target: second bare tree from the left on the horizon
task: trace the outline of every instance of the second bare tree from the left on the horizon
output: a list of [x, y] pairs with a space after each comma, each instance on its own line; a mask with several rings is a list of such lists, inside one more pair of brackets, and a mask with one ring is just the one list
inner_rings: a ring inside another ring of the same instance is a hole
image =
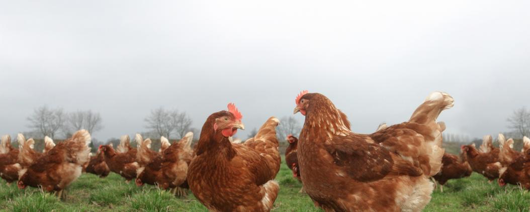
[[71, 112], [68, 113], [63, 131], [66, 137], [72, 136], [75, 131], [80, 129], [86, 129], [92, 134], [103, 129], [101, 121], [100, 113], [92, 112], [92, 110]]

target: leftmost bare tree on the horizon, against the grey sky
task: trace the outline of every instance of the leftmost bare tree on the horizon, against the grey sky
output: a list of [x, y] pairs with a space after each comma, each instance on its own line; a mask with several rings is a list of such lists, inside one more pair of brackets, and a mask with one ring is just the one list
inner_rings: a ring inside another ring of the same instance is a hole
[[65, 113], [61, 108], [49, 109], [42, 106], [33, 110], [33, 114], [27, 119], [30, 121], [28, 127], [37, 131], [42, 137], [54, 138], [57, 131], [63, 127]]

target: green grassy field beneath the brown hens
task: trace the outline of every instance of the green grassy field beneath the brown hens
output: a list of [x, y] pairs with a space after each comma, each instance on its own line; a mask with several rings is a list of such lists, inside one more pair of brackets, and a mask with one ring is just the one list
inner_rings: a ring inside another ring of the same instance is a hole
[[[301, 184], [282, 164], [277, 180], [280, 193], [273, 211], [321, 211], [309, 197], [299, 194]], [[425, 211], [530, 211], [530, 194], [519, 187], [501, 188], [482, 175], [449, 181], [444, 193], [436, 190]], [[67, 190], [64, 201], [39, 189], [19, 190], [0, 183], [0, 211], [207, 211], [193, 195], [175, 198], [167, 191], [146, 185], [126, 184], [117, 174], [100, 179], [83, 174]]]

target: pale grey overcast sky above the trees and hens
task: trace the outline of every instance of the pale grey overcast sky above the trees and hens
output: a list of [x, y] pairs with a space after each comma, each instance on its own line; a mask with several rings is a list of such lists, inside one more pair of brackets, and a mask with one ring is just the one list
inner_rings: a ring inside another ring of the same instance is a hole
[[438, 90], [455, 99], [449, 133], [507, 131], [530, 108], [530, 1], [1, 2], [0, 134], [29, 131], [42, 105], [100, 112], [107, 140], [147, 131], [161, 106], [200, 129], [234, 102], [246, 137], [293, 116], [301, 90], [358, 133]]

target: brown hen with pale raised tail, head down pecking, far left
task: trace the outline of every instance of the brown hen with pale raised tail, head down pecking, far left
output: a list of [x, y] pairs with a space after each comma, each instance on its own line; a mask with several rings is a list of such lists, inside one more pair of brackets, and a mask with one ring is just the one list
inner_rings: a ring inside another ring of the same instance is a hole
[[[77, 131], [72, 138], [57, 144], [27, 169], [21, 170], [18, 187], [42, 188], [63, 197], [63, 190], [81, 175], [81, 166], [90, 160], [90, 142], [88, 131]], [[25, 157], [26, 153], [29, 152], [21, 151], [19, 156]]]

